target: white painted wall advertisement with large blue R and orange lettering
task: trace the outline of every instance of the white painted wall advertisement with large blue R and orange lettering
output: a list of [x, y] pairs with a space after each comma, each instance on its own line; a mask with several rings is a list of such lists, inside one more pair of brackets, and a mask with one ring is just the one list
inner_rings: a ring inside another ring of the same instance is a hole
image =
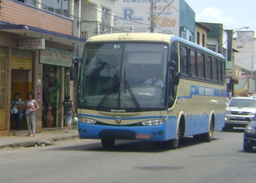
[[[150, 0], [116, 1], [113, 10], [115, 27], [119, 30], [150, 32]], [[155, 0], [154, 17], [154, 33], [179, 36], [179, 0]]]

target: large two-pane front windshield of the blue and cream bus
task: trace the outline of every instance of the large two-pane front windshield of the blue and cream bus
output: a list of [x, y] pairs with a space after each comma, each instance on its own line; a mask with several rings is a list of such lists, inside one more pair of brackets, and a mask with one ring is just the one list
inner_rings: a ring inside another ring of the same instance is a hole
[[80, 108], [116, 111], [165, 107], [168, 46], [88, 43], [79, 78]]

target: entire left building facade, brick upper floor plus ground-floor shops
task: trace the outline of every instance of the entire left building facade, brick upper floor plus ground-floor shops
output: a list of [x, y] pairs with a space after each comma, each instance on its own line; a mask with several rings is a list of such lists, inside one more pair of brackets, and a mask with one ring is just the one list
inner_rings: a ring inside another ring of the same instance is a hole
[[[0, 136], [27, 133], [17, 131], [11, 118], [11, 100], [16, 92], [27, 99], [32, 91], [40, 109], [36, 131], [64, 126], [58, 106], [65, 94], [73, 94], [69, 68], [74, 47], [85, 40], [73, 36], [74, 1], [4, 0], [0, 1]], [[51, 109], [50, 109], [51, 108]], [[47, 115], [54, 120], [48, 123]]]

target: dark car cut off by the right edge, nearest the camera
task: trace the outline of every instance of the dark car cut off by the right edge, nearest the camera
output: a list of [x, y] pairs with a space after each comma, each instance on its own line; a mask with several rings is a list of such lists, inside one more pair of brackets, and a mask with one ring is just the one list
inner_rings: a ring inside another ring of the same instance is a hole
[[253, 147], [256, 146], [256, 116], [246, 126], [244, 132], [244, 151], [251, 152]]

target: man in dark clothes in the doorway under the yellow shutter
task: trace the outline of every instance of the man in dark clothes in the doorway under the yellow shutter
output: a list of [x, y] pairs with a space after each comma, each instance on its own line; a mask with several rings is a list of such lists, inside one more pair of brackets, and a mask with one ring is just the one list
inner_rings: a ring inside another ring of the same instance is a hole
[[11, 101], [11, 108], [14, 111], [14, 114], [12, 114], [12, 117], [18, 117], [18, 129], [22, 130], [21, 122], [22, 122], [22, 116], [23, 116], [23, 105], [24, 101], [19, 98], [19, 93], [15, 93], [15, 99]]

